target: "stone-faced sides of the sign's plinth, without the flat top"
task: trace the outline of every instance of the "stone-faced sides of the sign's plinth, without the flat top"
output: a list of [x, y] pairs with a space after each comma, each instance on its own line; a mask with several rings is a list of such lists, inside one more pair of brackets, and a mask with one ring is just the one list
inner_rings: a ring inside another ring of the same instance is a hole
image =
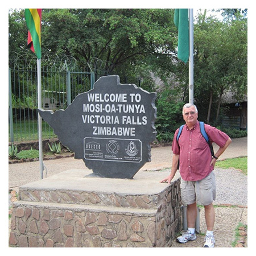
[[22, 189], [12, 247], [169, 247], [181, 230], [180, 179], [155, 195]]

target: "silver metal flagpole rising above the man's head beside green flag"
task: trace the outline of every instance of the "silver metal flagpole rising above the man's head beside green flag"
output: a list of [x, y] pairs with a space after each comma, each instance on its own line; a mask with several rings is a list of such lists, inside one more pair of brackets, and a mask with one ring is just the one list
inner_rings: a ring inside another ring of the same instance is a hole
[[189, 9], [189, 103], [194, 102], [194, 24], [193, 9]]

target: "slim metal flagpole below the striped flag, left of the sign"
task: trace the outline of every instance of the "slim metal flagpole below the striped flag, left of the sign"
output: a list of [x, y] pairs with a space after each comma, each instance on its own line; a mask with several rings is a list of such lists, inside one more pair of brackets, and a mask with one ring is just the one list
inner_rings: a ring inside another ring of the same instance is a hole
[[[38, 59], [38, 109], [42, 109], [42, 86], [41, 86], [41, 59]], [[42, 144], [42, 117], [38, 113], [38, 141], [39, 141], [39, 167], [41, 179], [44, 178], [43, 170], [43, 144]]]

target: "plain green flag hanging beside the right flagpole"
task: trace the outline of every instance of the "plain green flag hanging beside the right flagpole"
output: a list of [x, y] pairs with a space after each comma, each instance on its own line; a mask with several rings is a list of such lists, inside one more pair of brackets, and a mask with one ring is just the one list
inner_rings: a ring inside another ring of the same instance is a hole
[[178, 59], [187, 63], [189, 56], [188, 9], [175, 9], [174, 24], [178, 30]]

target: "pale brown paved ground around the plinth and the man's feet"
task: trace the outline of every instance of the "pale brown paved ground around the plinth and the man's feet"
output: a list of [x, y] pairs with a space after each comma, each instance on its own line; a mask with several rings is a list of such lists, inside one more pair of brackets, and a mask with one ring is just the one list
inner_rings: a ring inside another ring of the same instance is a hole
[[[171, 167], [172, 151], [170, 146], [152, 148], [151, 154], [152, 161], [145, 164], [141, 169], [142, 171]], [[247, 137], [233, 139], [232, 144], [230, 144], [229, 148], [220, 157], [220, 160], [239, 156], [247, 156]], [[46, 160], [44, 164], [47, 168], [47, 177], [70, 169], [86, 168], [82, 160], [76, 160], [74, 158]], [[46, 177], [46, 170], [44, 171], [44, 177]], [[20, 185], [36, 180], [40, 180], [39, 162], [9, 164], [9, 189], [18, 191]], [[232, 247], [234, 229], [236, 229], [239, 222], [247, 225], [247, 204], [240, 207], [216, 207], [216, 224], [214, 226], [216, 247]], [[202, 233], [206, 230], [204, 209], [200, 210], [200, 230]], [[185, 245], [174, 241], [172, 247], [201, 247], [203, 243], [204, 236], [199, 235], [195, 241], [188, 242]]]

